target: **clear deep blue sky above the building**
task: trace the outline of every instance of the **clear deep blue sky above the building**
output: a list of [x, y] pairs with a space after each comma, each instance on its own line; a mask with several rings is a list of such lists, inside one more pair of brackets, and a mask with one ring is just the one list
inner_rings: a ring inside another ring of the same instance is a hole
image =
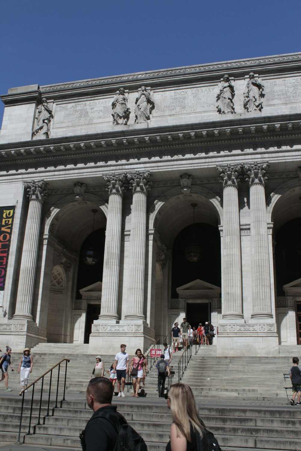
[[298, 52], [300, 13], [300, 0], [0, 0], [0, 94]]

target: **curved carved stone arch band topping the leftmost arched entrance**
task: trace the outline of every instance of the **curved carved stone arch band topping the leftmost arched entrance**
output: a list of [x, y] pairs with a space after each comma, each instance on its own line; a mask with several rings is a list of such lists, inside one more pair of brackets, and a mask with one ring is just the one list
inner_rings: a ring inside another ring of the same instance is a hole
[[42, 233], [49, 234], [51, 223], [56, 217], [56, 215], [62, 210], [62, 208], [67, 207], [68, 205], [75, 204], [77, 202], [79, 204], [80, 202], [93, 202], [96, 207], [102, 210], [102, 212], [107, 218], [108, 204], [107, 202], [104, 202], [102, 198], [95, 196], [95, 194], [85, 193], [84, 201], [79, 202], [74, 199], [74, 194], [71, 194], [61, 199], [60, 201], [56, 202], [56, 204], [50, 208], [49, 212], [46, 214], [45, 219], [43, 221]]

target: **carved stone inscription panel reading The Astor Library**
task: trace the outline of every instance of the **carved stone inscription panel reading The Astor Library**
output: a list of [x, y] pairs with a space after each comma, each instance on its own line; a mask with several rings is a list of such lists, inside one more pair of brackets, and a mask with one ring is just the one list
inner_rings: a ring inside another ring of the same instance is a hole
[[53, 128], [110, 123], [112, 122], [112, 99], [113, 96], [72, 103], [58, 103], [54, 114]]

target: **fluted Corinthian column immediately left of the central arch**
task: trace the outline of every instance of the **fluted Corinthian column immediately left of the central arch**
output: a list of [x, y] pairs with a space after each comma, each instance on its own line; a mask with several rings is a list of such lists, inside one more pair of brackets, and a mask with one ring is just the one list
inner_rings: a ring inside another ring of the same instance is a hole
[[133, 205], [130, 231], [130, 274], [128, 287], [128, 313], [125, 319], [144, 318], [144, 267], [146, 235], [146, 197], [150, 190], [149, 172], [136, 173], [130, 180], [133, 189]]

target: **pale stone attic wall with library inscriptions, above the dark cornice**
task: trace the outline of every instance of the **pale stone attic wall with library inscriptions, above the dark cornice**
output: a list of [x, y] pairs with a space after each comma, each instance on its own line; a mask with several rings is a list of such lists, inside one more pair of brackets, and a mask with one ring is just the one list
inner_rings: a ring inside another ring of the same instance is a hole
[[[296, 63], [300, 60], [300, 54], [292, 54], [44, 87], [12, 88], [1, 97], [6, 108], [0, 143], [35, 138], [43, 139], [44, 144], [45, 138], [114, 132], [116, 128], [136, 130], [140, 134], [144, 128], [150, 131], [163, 125], [223, 119], [248, 121], [250, 117], [278, 115], [279, 108], [282, 114], [298, 114], [301, 72]], [[278, 69], [281, 61], [287, 63], [287, 72]], [[181, 74], [185, 74], [185, 81], [179, 78]], [[141, 86], [144, 81], [147, 87]], [[97, 86], [102, 86], [102, 94], [99, 90], [97, 94], [93, 92]], [[22, 127], [20, 120], [14, 118], [17, 111], [24, 116]], [[268, 125], [263, 126], [265, 133]], [[127, 146], [127, 139], [123, 141]]]

